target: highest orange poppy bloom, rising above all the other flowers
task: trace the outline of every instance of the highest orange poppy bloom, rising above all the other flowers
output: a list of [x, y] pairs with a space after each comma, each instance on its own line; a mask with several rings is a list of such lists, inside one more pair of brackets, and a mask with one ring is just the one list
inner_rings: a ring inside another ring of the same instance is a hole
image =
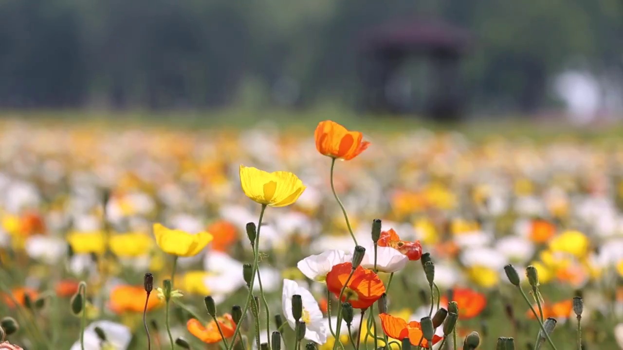
[[314, 138], [318, 152], [347, 161], [358, 156], [370, 144], [368, 141], [361, 141], [363, 134], [359, 131], [348, 131], [344, 126], [330, 120], [318, 123]]

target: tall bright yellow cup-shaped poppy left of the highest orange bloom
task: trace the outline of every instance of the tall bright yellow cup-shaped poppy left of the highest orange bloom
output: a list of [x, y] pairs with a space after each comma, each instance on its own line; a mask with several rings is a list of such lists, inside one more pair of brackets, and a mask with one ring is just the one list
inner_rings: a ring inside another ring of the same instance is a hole
[[289, 206], [307, 188], [295, 174], [288, 171], [268, 173], [243, 165], [240, 165], [240, 184], [247, 197], [271, 207]]

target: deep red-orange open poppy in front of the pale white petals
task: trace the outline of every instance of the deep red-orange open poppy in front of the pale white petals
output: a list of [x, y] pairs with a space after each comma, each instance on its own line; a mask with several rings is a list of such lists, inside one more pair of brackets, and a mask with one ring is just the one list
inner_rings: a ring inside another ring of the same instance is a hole
[[[338, 298], [342, 287], [353, 270], [350, 262], [338, 263], [326, 275], [326, 288]], [[385, 293], [381, 278], [372, 270], [358, 266], [353, 273], [342, 295], [342, 301], [348, 300], [353, 308], [366, 309], [374, 304]]]

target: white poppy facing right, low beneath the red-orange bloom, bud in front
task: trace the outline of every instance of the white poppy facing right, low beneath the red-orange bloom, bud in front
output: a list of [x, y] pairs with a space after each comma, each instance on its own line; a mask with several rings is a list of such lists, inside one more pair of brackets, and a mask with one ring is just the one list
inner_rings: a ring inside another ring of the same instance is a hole
[[305, 339], [315, 341], [318, 344], [325, 344], [328, 329], [323, 323], [322, 311], [314, 299], [312, 293], [307, 289], [298, 286], [293, 280], [283, 280], [282, 306], [283, 315], [292, 329], [296, 327], [296, 319], [292, 315], [292, 296], [300, 295], [303, 301], [302, 321], [305, 322]]

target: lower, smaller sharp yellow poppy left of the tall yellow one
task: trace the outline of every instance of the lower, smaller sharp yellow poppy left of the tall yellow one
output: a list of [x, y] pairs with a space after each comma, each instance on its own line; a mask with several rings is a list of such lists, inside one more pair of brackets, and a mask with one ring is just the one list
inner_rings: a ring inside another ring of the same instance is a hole
[[193, 257], [212, 242], [212, 235], [207, 232], [189, 234], [183, 230], [172, 230], [161, 224], [154, 224], [156, 244], [165, 253], [178, 257]]

